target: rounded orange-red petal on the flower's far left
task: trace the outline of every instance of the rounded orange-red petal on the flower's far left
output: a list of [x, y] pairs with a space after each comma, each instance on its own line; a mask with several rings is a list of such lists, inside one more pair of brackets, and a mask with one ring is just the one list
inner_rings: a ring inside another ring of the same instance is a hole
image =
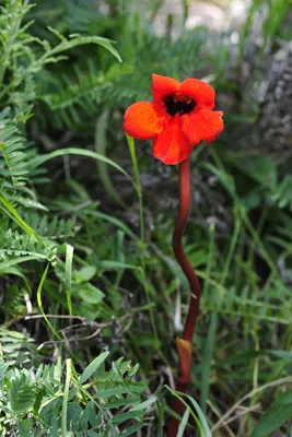
[[162, 131], [165, 116], [163, 104], [137, 102], [125, 113], [124, 130], [136, 140], [149, 140]]

